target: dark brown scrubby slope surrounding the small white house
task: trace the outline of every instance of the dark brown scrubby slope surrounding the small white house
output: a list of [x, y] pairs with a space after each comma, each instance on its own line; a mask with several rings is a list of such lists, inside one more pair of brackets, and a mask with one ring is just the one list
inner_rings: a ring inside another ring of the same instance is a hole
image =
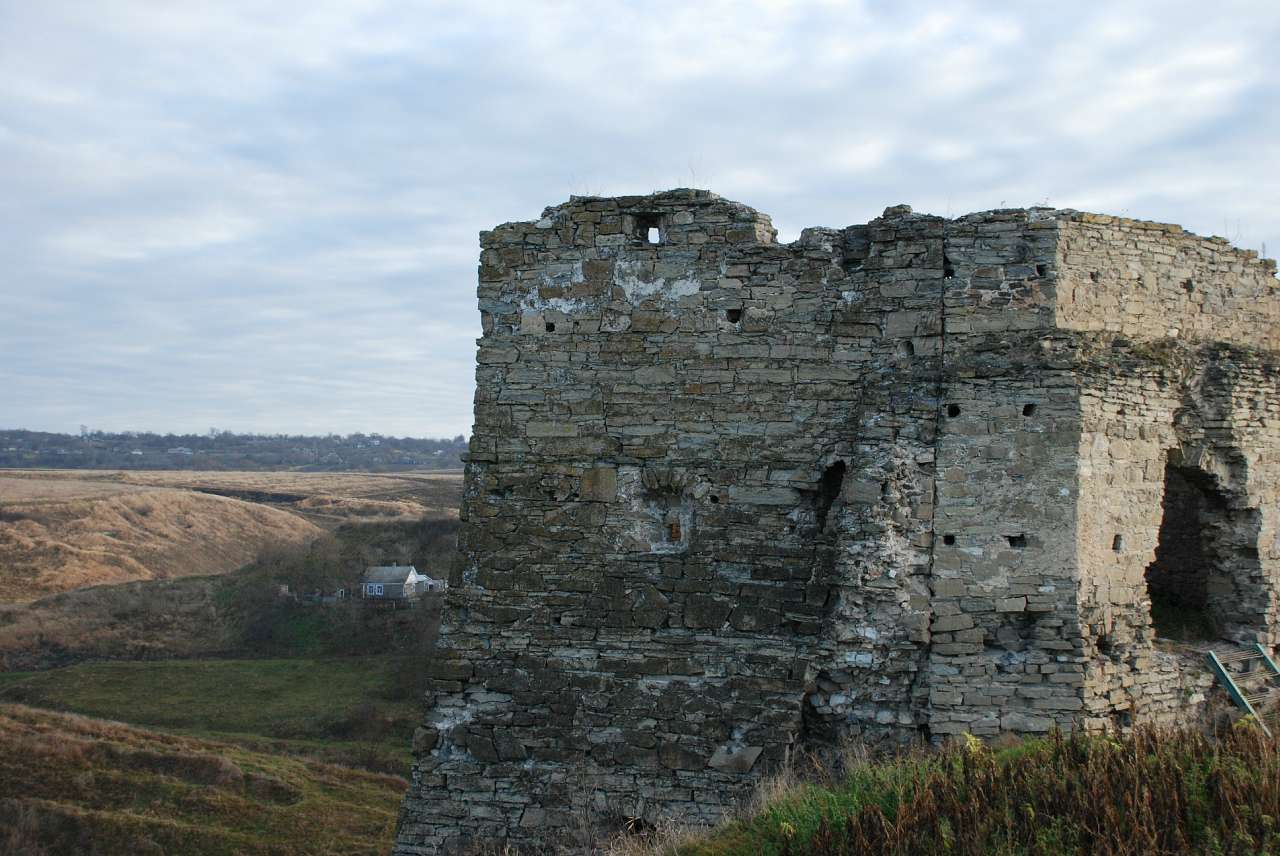
[[349, 525], [307, 548], [262, 550], [236, 573], [92, 586], [31, 604], [0, 603], [0, 672], [86, 659], [425, 653], [434, 631], [406, 624], [419, 618], [433, 624], [434, 615], [369, 613], [356, 603], [311, 608], [276, 592], [282, 583], [298, 592], [351, 587], [365, 566], [383, 562], [412, 563], [447, 577], [457, 562], [457, 530], [456, 519]]

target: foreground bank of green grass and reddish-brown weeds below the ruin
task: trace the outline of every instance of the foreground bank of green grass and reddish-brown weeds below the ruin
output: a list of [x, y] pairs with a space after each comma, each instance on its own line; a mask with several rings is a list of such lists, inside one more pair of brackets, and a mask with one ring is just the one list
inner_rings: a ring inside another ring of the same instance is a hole
[[1248, 723], [1217, 740], [973, 741], [781, 784], [745, 819], [649, 852], [1280, 853], [1280, 742]]

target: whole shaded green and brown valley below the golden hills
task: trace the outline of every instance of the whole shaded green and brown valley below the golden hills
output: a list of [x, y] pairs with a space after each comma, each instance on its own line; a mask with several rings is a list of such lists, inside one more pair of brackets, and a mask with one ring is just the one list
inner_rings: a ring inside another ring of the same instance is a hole
[[384, 560], [447, 576], [457, 526], [343, 525], [234, 573], [0, 604], [0, 856], [387, 852], [438, 603], [282, 586]]

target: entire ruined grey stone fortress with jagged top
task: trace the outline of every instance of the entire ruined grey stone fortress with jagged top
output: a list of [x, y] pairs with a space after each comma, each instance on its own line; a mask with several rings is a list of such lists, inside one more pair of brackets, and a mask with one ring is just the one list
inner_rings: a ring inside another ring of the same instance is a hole
[[712, 821], [797, 749], [1197, 715], [1276, 646], [1280, 281], [1172, 225], [705, 191], [481, 234], [462, 578], [397, 853]]

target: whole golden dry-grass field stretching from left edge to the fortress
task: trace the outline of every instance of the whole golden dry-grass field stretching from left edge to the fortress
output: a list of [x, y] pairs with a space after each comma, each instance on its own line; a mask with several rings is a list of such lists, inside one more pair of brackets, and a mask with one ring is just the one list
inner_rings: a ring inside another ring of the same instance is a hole
[[452, 518], [461, 473], [0, 471], [0, 603], [227, 573], [347, 522]]

